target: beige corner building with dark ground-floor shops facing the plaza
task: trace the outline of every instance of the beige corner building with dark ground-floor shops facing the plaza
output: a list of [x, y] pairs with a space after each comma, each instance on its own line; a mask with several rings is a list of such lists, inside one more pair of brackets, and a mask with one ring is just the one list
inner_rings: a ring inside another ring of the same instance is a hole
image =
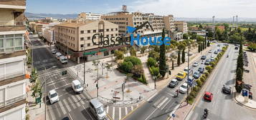
[[[84, 21], [54, 26], [55, 46], [63, 54], [68, 53], [70, 59], [77, 61], [78, 64], [83, 59], [91, 61], [93, 59], [113, 56], [115, 49], [126, 46], [96, 45], [102, 39], [108, 43], [107, 40], [110, 40], [111, 37], [113, 37], [113, 41], [116, 41], [118, 38], [118, 25], [109, 21]], [[93, 44], [93, 41], [96, 44]], [[98, 51], [101, 54], [97, 55]]]

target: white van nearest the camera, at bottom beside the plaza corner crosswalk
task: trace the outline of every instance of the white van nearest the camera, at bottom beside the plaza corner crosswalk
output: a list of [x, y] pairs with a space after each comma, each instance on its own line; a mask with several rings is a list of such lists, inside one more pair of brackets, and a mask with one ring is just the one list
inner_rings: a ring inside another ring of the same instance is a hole
[[97, 119], [107, 119], [107, 114], [105, 112], [103, 104], [100, 103], [98, 99], [91, 99], [89, 104], [90, 111], [96, 116]]

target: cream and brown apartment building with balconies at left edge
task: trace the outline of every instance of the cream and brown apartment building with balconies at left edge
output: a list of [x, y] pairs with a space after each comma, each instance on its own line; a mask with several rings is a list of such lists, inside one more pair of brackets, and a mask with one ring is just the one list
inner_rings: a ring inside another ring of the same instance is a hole
[[0, 1], [0, 119], [24, 120], [28, 79], [24, 34], [25, 0]]

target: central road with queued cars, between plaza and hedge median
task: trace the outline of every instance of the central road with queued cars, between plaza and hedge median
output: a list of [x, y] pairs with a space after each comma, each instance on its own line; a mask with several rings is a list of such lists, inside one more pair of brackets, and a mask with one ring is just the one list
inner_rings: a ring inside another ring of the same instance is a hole
[[[219, 49], [219, 46], [217, 44], [212, 45], [212, 51], [215, 51]], [[210, 57], [217, 55], [212, 52], [206, 54], [207, 59], [210, 59]], [[199, 62], [199, 66], [193, 67], [191, 63], [190, 68], [193, 71], [197, 71], [197, 69], [201, 66], [204, 67], [204, 61], [202, 62], [201, 57], [199, 59], [196, 59], [197, 62]], [[202, 64], [203, 63], [203, 64]], [[174, 78], [172, 78], [174, 79]], [[148, 119], [158, 119], [158, 120], [164, 120], [168, 119], [171, 112], [176, 108], [176, 106], [179, 106], [181, 101], [186, 97], [186, 94], [179, 94], [178, 98], [174, 98], [173, 96], [176, 94], [176, 89], [179, 89], [179, 86], [185, 82], [185, 79], [183, 81], [179, 81], [179, 85], [176, 86], [174, 89], [170, 89], [168, 86], [163, 88], [158, 93], [151, 96], [151, 98], [148, 99], [141, 107], [136, 109], [136, 111], [133, 111], [132, 114], [127, 116], [126, 120], [134, 120], [134, 119], [140, 119], [140, 120], [148, 120]]]

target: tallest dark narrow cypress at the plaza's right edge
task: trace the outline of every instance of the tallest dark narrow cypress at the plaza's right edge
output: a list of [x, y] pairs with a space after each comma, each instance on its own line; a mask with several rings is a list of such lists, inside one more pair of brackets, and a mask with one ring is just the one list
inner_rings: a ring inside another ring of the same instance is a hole
[[[165, 36], [165, 32], [163, 29], [162, 41], [164, 36]], [[166, 75], [166, 45], [165, 44], [162, 44], [160, 46], [159, 71], [162, 77]]]

